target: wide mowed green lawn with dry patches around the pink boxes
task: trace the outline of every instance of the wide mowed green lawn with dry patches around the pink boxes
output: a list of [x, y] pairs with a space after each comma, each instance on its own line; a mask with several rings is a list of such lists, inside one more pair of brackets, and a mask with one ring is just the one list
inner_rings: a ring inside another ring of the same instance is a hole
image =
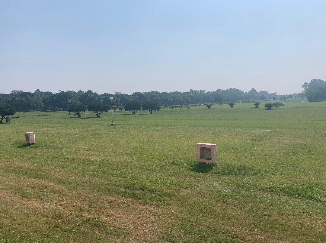
[[16, 113], [0, 242], [326, 242], [326, 102], [284, 103]]

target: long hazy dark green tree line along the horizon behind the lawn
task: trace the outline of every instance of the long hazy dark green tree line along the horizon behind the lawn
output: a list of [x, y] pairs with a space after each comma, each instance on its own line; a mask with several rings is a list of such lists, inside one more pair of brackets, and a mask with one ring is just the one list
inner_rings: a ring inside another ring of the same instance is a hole
[[122, 109], [130, 101], [138, 101], [142, 106], [146, 101], [156, 101], [160, 105], [189, 105], [199, 103], [220, 102], [249, 102], [255, 100], [286, 100], [293, 98], [308, 98], [308, 101], [326, 100], [326, 82], [322, 79], [313, 79], [310, 83], [302, 85], [304, 89], [300, 94], [277, 95], [261, 90], [257, 92], [252, 88], [249, 92], [236, 88], [217, 89], [215, 91], [190, 90], [189, 92], [135, 92], [131, 95], [121, 92], [97, 94], [92, 90], [84, 91], [59, 91], [52, 93], [37, 89], [34, 93], [13, 90], [9, 94], [0, 94], [0, 103], [9, 104], [17, 111], [30, 110], [67, 110], [75, 103], [88, 105], [92, 102], [104, 102], [111, 105], [110, 97], [113, 97], [114, 109]]

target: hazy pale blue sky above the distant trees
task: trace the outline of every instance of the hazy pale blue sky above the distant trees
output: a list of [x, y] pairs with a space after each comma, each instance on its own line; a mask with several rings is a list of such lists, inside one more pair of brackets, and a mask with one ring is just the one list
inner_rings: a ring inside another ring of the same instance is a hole
[[0, 0], [0, 93], [300, 93], [326, 79], [325, 10], [324, 0]]

